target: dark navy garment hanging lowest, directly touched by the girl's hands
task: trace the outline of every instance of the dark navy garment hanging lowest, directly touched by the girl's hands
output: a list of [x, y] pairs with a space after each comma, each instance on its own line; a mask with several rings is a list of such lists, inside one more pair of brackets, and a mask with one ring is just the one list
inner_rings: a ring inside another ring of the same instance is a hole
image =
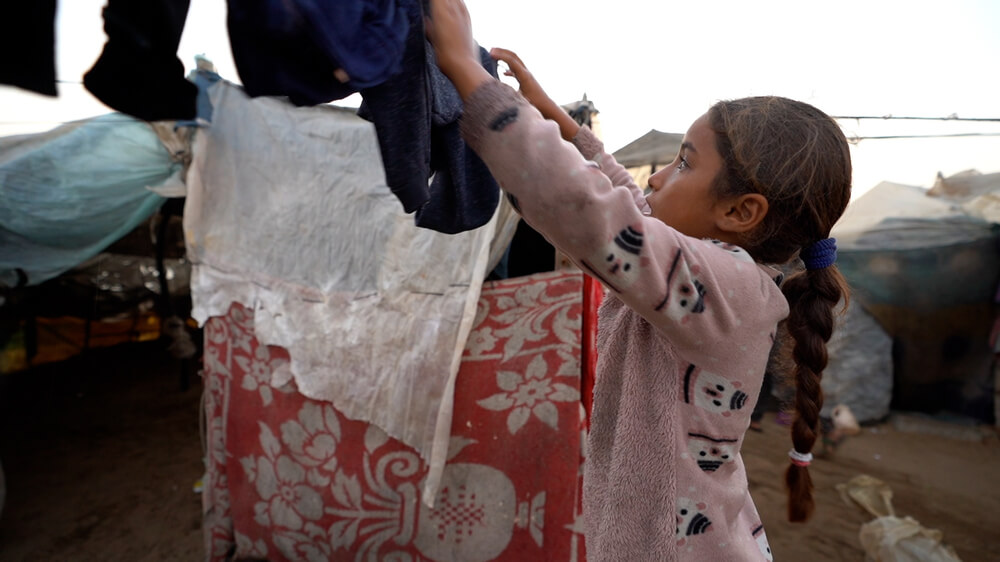
[[[411, 17], [402, 71], [361, 90], [358, 115], [375, 125], [386, 183], [403, 209], [416, 213], [416, 225], [448, 234], [473, 230], [493, 216], [500, 187], [462, 140], [462, 100], [437, 67], [423, 16]], [[496, 61], [482, 48], [480, 57], [496, 78]]]

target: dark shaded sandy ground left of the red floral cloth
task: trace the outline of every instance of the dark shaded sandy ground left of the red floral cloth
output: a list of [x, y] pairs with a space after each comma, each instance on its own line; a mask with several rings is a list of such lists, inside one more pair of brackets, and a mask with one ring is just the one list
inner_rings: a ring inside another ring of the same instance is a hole
[[0, 379], [0, 560], [202, 559], [195, 376], [157, 342]]

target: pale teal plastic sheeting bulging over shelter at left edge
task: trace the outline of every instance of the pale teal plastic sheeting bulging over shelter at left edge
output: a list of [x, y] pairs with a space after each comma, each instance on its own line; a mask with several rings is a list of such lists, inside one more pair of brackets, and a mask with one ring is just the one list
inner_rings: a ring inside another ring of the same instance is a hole
[[179, 170], [149, 126], [121, 114], [0, 139], [0, 283], [51, 279], [146, 220], [146, 186]]

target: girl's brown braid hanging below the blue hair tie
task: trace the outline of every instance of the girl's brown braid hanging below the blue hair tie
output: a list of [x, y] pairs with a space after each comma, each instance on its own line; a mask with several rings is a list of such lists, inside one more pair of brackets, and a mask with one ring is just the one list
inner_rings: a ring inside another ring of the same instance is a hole
[[[823, 407], [820, 378], [826, 368], [826, 342], [833, 334], [833, 307], [847, 295], [847, 285], [836, 267], [806, 270], [788, 278], [782, 290], [788, 299], [788, 333], [794, 340], [795, 419], [792, 444], [808, 453], [816, 443], [819, 412]], [[809, 469], [790, 463], [785, 472], [788, 520], [805, 521], [812, 515], [812, 479]]]

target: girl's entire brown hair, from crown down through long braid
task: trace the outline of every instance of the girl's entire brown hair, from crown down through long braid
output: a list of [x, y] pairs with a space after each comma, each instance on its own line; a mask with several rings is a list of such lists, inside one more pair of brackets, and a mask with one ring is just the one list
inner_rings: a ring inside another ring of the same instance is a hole
[[[759, 193], [768, 212], [747, 233], [743, 247], [759, 262], [784, 264], [830, 235], [851, 198], [851, 156], [837, 123], [815, 107], [774, 96], [721, 101], [708, 112], [725, 162], [714, 190], [719, 196]], [[836, 266], [792, 274], [782, 284], [788, 299], [787, 332], [792, 339], [796, 383], [794, 450], [812, 450], [823, 406], [820, 378], [833, 333], [834, 307], [847, 298]], [[789, 463], [788, 518], [812, 514], [812, 480], [806, 466]]]

